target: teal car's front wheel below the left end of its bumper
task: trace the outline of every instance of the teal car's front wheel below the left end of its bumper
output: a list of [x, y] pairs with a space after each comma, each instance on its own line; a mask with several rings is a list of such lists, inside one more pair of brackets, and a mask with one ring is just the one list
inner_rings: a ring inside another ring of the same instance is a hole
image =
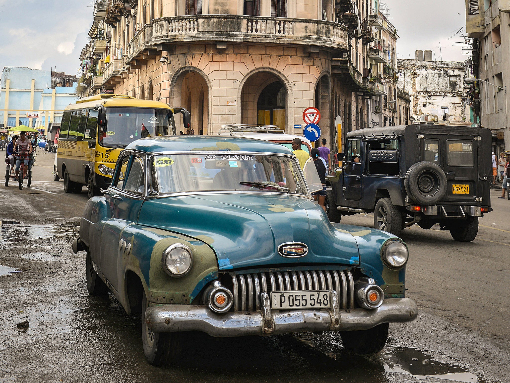
[[149, 330], [145, 322], [148, 308], [147, 297], [142, 298], [142, 344], [143, 353], [151, 365], [168, 367], [175, 365], [181, 353], [181, 334], [175, 332], [154, 332]]

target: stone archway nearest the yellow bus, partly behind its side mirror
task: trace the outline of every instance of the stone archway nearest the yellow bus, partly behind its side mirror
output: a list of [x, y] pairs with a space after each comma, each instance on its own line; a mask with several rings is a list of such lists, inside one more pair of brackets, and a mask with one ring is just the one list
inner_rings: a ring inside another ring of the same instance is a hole
[[[182, 69], [172, 79], [172, 106], [180, 106], [191, 113], [191, 127], [195, 135], [209, 133], [209, 85], [198, 70]], [[175, 115], [177, 134], [183, 131], [181, 117]], [[186, 134], [186, 131], [183, 131]]]

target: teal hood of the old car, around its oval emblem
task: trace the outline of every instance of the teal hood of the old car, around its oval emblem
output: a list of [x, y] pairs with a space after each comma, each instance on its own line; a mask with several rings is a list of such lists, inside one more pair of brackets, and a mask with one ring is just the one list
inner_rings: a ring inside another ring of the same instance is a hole
[[[216, 194], [145, 201], [138, 222], [195, 237], [216, 253], [220, 270], [276, 265], [359, 265], [353, 235], [329, 223], [309, 198], [276, 194]], [[303, 257], [278, 247], [304, 243]]]

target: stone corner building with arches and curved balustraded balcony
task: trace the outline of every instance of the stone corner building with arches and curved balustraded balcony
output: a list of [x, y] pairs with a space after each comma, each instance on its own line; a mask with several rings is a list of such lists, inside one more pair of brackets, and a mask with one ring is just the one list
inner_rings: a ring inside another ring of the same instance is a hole
[[[391, 92], [380, 84], [398, 36], [377, 3], [96, 0], [82, 70], [93, 91], [189, 109], [195, 134], [231, 124], [302, 134], [302, 112], [315, 106], [333, 144], [336, 115], [345, 134], [379, 118], [382, 97], [396, 102], [395, 76]], [[383, 43], [381, 31], [393, 37]]]

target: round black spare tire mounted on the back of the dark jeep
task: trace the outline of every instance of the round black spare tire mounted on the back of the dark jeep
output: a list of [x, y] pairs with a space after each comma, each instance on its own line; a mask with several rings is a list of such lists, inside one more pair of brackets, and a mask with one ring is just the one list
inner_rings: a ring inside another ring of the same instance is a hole
[[434, 162], [418, 162], [405, 174], [404, 186], [413, 201], [432, 205], [440, 201], [446, 193], [446, 175]]

